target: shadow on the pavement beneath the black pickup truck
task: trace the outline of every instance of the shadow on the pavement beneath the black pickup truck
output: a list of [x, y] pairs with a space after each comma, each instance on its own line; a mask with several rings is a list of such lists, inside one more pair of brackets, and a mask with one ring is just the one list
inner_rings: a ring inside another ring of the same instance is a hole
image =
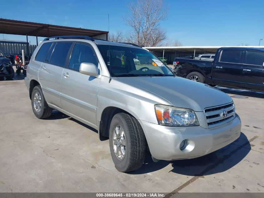
[[260, 92], [260, 91], [232, 89], [232, 88], [219, 87], [219, 86], [215, 86], [214, 88], [219, 89], [225, 92], [226, 94], [234, 94], [234, 95], [239, 95], [239, 96], [255, 97], [255, 98], [264, 98], [264, 92]]

